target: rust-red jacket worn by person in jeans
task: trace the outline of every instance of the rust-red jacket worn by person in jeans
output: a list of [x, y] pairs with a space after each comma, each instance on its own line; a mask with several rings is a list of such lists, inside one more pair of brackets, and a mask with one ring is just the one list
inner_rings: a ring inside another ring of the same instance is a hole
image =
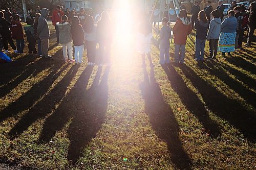
[[191, 20], [189, 18], [178, 18], [174, 28], [174, 43], [185, 45], [187, 41], [187, 35], [192, 31]]

